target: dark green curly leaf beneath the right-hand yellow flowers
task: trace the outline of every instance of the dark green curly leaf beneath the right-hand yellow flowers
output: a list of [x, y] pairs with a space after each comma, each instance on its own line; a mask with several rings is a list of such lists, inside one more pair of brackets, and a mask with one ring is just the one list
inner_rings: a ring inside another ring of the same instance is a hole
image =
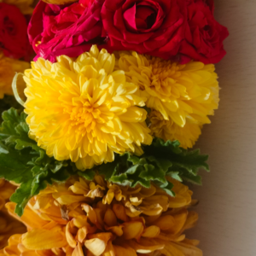
[[155, 138], [150, 146], [143, 148], [142, 156], [131, 153], [116, 154], [112, 163], [102, 164], [96, 170], [110, 182], [131, 187], [139, 183], [146, 188], [153, 182], [173, 196], [173, 185], [166, 180], [166, 176], [179, 182], [184, 179], [201, 184], [199, 169], [209, 170], [207, 155], [201, 155], [199, 150], [185, 150], [179, 145], [177, 141], [165, 143]]

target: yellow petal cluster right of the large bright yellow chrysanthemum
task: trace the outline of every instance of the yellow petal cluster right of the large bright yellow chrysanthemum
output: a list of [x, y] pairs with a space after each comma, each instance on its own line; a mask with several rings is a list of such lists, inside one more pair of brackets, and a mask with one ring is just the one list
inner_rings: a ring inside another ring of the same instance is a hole
[[125, 70], [127, 80], [140, 87], [147, 107], [162, 115], [161, 118], [154, 114], [157, 116], [151, 124], [154, 136], [178, 139], [184, 148], [192, 147], [201, 133], [201, 125], [209, 124], [207, 116], [218, 108], [218, 77], [214, 66], [196, 61], [180, 65], [134, 51], [115, 55], [119, 59], [116, 68]]

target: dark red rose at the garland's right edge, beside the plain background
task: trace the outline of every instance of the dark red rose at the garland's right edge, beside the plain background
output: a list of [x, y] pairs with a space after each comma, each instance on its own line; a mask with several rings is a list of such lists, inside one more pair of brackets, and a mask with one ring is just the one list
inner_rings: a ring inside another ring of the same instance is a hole
[[217, 63], [226, 54], [223, 41], [229, 35], [227, 28], [214, 19], [212, 0], [187, 0], [187, 4], [188, 23], [179, 50], [182, 63], [191, 59]]

